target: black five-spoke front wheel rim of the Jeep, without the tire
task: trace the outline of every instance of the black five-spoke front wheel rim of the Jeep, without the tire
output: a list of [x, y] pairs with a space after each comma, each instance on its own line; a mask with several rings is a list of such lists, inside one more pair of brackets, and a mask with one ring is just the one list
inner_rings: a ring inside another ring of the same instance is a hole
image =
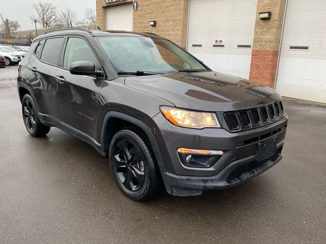
[[140, 150], [127, 139], [120, 140], [115, 148], [114, 169], [122, 185], [129, 191], [144, 186], [145, 166]]

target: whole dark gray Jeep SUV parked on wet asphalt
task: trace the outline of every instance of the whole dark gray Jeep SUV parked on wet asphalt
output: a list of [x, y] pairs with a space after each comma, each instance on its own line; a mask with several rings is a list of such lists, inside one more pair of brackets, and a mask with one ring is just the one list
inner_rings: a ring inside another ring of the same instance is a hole
[[274, 89], [155, 34], [50, 31], [18, 70], [27, 131], [57, 127], [91, 144], [131, 199], [162, 184], [175, 196], [233, 187], [282, 159], [288, 117]]

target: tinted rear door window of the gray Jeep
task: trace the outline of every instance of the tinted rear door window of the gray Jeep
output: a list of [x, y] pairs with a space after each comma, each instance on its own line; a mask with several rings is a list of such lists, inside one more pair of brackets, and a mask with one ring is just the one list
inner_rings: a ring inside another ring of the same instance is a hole
[[43, 47], [41, 60], [49, 64], [58, 65], [63, 42], [63, 37], [47, 39]]

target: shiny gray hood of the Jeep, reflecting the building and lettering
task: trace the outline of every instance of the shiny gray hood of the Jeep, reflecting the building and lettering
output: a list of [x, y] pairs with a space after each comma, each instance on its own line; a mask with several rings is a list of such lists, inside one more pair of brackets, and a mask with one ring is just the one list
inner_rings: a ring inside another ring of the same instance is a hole
[[125, 85], [173, 103], [202, 111], [231, 111], [279, 101], [274, 89], [218, 72], [127, 77]]

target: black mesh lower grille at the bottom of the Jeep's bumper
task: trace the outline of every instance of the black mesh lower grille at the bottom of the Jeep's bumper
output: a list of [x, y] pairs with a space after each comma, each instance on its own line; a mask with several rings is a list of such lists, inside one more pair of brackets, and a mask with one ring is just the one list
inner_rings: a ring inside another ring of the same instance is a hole
[[229, 174], [226, 181], [230, 184], [230, 183], [236, 182], [238, 180], [241, 180], [242, 179], [241, 175], [244, 174], [244, 173], [251, 172], [252, 175], [257, 173], [259, 171], [259, 169], [258, 169], [259, 166], [266, 163], [268, 160], [271, 160], [272, 162], [275, 162], [275, 160], [279, 157], [279, 154], [281, 153], [281, 151], [282, 151], [282, 147], [279, 148], [276, 151], [276, 153], [273, 156], [269, 157], [268, 159], [265, 159], [265, 160], [260, 161], [260, 162], [252, 161], [250, 163], [242, 164], [242, 165], [240, 165], [238, 167], [235, 167], [231, 171], [231, 173]]

